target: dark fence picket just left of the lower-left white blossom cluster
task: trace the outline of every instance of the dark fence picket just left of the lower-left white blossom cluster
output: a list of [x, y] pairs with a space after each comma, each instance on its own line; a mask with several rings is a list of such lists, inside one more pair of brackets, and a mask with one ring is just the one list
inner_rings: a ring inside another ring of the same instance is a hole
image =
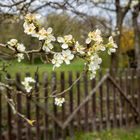
[[[16, 82], [21, 84], [20, 74], [16, 74]], [[17, 87], [17, 91], [20, 89]], [[17, 93], [17, 111], [22, 113], [22, 97], [20, 93]], [[22, 139], [22, 118], [17, 116], [17, 140]]]

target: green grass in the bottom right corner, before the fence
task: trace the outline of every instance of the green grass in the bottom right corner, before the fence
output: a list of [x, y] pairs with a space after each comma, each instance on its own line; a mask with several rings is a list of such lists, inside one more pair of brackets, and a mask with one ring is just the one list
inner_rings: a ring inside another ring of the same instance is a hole
[[[67, 138], [71, 140], [71, 138]], [[140, 126], [92, 133], [77, 133], [73, 140], [140, 140]]]

